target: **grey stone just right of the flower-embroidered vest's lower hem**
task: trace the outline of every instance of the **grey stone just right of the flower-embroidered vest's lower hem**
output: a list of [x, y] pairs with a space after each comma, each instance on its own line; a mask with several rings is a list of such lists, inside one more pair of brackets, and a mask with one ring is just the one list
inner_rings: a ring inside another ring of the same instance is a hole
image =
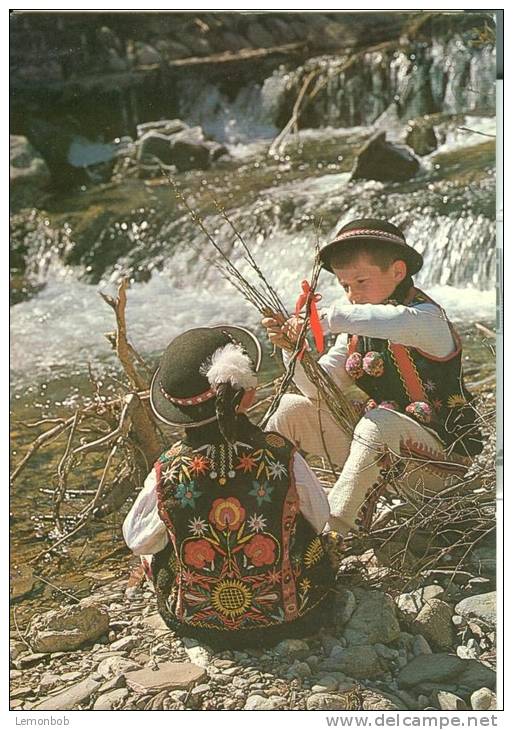
[[401, 629], [395, 603], [381, 591], [355, 590], [357, 606], [344, 629], [349, 645], [390, 644]]

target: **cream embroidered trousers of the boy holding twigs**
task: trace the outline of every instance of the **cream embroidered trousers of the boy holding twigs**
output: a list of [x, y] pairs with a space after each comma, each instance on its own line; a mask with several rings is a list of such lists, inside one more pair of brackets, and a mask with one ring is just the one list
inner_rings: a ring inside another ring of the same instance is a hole
[[319, 404], [303, 396], [286, 396], [269, 422], [309, 454], [343, 464], [330, 491], [330, 527], [339, 532], [370, 527], [379, 496], [393, 482], [409, 500], [424, 499], [450, 486], [466, 467], [449, 461], [441, 441], [411, 418], [376, 408], [360, 419], [352, 440]]

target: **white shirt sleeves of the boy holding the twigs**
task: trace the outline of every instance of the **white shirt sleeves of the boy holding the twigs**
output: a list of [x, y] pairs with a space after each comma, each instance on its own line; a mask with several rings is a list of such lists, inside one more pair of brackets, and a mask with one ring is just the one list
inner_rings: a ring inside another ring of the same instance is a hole
[[[347, 374], [347, 335], [376, 337], [398, 345], [415, 347], [433, 357], [447, 357], [456, 351], [456, 343], [445, 312], [430, 302], [414, 307], [402, 304], [333, 304], [320, 311], [324, 334], [340, 334], [335, 344], [319, 358], [319, 365], [344, 390], [354, 386]], [[288, 365], [291, 353], [283, 350], [283, 362]], [[307, 378], [300, 363], [296, 363], [294, 383], [310, 398], [317, 388]]]

